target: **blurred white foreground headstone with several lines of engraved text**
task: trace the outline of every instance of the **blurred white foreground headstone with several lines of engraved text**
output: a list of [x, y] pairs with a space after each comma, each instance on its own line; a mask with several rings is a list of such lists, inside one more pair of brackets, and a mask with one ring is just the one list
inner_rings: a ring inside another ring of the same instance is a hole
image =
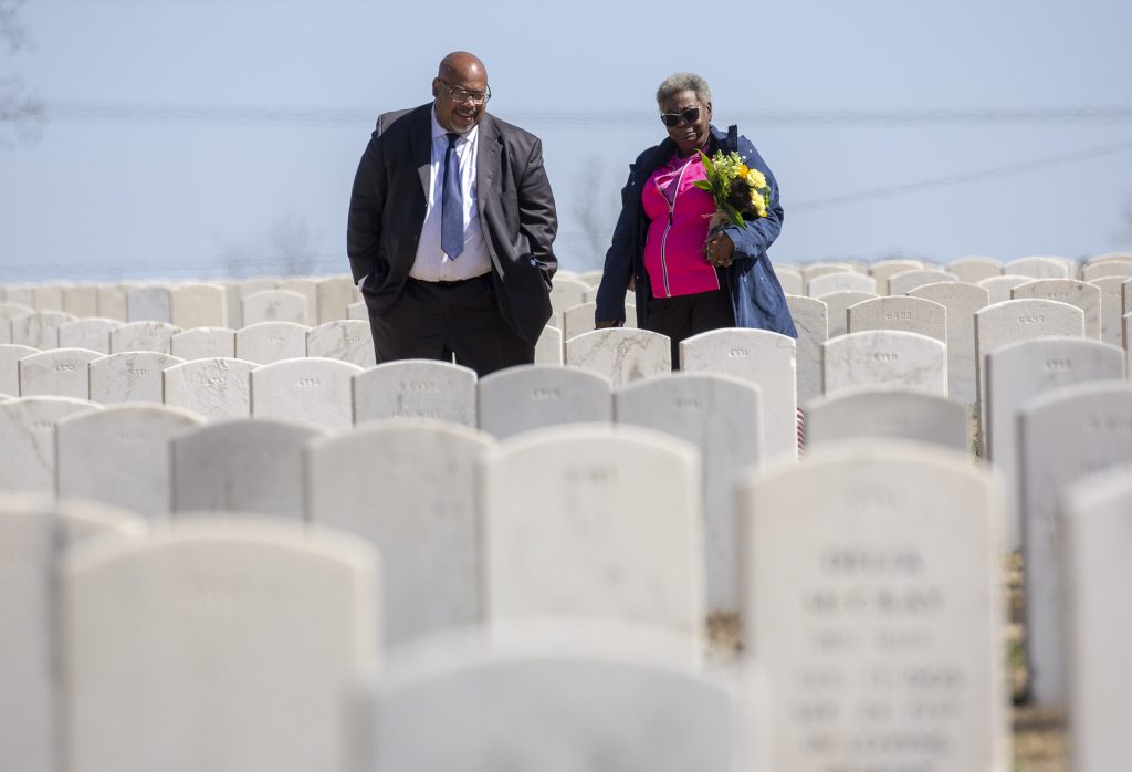
[[740, 501], [767, 769], [1007, 769], [997, 481], [963, 453], [861, 440], [753, 474]]

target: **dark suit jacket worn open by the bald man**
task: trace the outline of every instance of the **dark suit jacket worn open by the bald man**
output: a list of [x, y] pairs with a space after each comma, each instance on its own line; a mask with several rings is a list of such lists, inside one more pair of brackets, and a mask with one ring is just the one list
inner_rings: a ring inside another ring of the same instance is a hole
[[[550, 318], [555, 199], [542, 143], [484, 113], [479, 123], [477, 205], [491, 258], [499, 312], [529, 343]], [[346, 252], [366, 304], [380, 315], [401, 293], [417, 256], [428, 206], [432, 104], [383, 114], [358, 165]]]

